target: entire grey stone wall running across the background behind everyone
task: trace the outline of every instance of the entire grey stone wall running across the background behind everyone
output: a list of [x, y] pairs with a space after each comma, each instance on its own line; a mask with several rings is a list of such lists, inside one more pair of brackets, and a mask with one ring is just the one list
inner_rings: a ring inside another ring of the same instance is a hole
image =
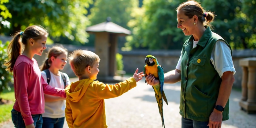
[[[11, 38], [4, 38], [3, 36], [0, 36], [1, 40], [10, 40]], [[3, 41], [3, 42], [5, 42]], [[54, 44], [59, 45], [59, 44]], [[76, 49], [82, 49], [82, 50], [90, 50], [94, 52], [93, 47], [86, 47], [86, 46], [74, 46], [74, 45], [63, 45], [69, 53], [73, 52]], [[46, 59], [46, 53], [49, 50], [49, 48], [52, 47], [52, 45], [47, 45], [47, 49], [44, 51], [42, 56], [35, 55], [35, 59], [38, 62], [38, 65], [40, 66], [43, 61]], [[145, 65], [145, 57], [149, 54], [154, 55], [158, 62], [164, 67], [164, 71], [168, 72], [170, 70], [175, 69], [177, 62], [180, 57], [180, 51], [181, 50], [171, 50], [171, 51], [148, 51], [148, 50], [138, 50], [138, 51], [129, 51], [129, 52], [122, 52], [119, 51], [120, 54], [123, 55], [123, 62], [124, 62], [124, 70], [127, 73], [134, 73], [136, 68], [139, 68], [139, 71], [143, 71], [143, 67]], [[241, 79], [242, 79], [242, 68], [239, 66], [239, 59], [241, 58], [247, 58], [247, 57], [256, 57], [256, 50], [233, 50], [232, 58], [234, 67], [236, 69], [235, 74], [235, 82], [234, 86], [241, 88]], [[67, 64], [62, 72], [65, 72], [69, 75], [69, 77], [75, 77], [75, 74], [70, 68], [70, 65]]]

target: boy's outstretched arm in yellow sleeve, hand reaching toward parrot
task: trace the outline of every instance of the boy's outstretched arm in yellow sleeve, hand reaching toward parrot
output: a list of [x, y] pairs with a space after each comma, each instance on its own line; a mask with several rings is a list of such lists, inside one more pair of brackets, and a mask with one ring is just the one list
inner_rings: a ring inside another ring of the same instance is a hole
[[125, 92], [128, 92], [130, 89], [136, 87], [136, 82], [140, 81], [144, 76], [143, 72], [140, 72], [139, 74], [137, 73], [138, 69], [135, 71], [133, 77], [115, 85], [104, 84], [101, 82], [97, 83], [96, 91], [98, 97], [101, 99], [109, 99], [121, 96]]

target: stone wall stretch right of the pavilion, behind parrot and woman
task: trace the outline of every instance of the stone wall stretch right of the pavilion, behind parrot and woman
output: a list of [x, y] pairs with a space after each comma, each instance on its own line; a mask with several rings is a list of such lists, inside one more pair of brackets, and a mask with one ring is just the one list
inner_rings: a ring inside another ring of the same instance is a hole
[[[129, 51], [119, 52], [123, 55], [124, 70], [128, 73], [134, 73], [136, 68], [139, 71], [143, 71], [145, 65], [145, 57], [149, 54], [154, 55], [157, 58], [159, 64], [164, 68], [165, 72], [174, 70], [180, 57], [181, 50], [172, 51]], [[239, 59], [247, 57], [256, 57], [256, 50], [233, 50], [232, 59], [236, 70], [234, 87], [241, 88], [242, 80], [242, 68], [239, 66]]]

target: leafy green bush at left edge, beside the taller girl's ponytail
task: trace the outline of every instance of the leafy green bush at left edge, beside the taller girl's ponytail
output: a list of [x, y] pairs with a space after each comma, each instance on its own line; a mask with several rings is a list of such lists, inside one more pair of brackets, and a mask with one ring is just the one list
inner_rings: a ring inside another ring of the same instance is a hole
[[10, 87], [8, 84], [13, 82], [13, 75], [11, 72], [6, 71], [6, 67], [4, 66], [5, 60], [8, 59], [7, 55], [7, 47], [9, 42], [2, 44], [2, 41], [0, 40], [0, 94], [4, 89], [10, 90]]

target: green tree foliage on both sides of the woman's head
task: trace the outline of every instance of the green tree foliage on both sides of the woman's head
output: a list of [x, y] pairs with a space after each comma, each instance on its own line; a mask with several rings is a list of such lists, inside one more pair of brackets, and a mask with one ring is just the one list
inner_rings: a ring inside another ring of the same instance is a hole
[[[126, 48], [181, 49], [189, 36], [177, 28], [175, 9], [186, 0], [144, 0], [134, 8], [128, 26]], [[197, 0], [206, 11], [215, 12], [213, 32], [222, 36], [233, 49], [256, 48], [256, 0]], [[125, 48], [123, 48], [125, 49]]]

